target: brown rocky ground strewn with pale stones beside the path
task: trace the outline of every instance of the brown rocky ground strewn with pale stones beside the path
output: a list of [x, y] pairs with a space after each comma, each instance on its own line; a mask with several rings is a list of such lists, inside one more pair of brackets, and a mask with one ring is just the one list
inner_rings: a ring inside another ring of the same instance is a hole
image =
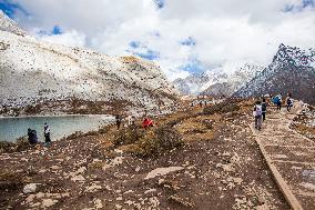
[[155, 119], [184, 143], [153, 156], [113, 146], [115, 128], [2, 153], [0, 209], [288, 209], [248, 127], [252, 101], [235, 106]]

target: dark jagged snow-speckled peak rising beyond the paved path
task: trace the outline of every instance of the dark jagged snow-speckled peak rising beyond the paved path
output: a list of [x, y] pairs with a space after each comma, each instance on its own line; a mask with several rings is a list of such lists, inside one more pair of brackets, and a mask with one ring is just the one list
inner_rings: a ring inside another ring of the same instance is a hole
[[282, 43], [268, 68], [234, 96], [253, 97], [288, 92], [296, 99], [315, 102], [315, 50], [302, 50]]

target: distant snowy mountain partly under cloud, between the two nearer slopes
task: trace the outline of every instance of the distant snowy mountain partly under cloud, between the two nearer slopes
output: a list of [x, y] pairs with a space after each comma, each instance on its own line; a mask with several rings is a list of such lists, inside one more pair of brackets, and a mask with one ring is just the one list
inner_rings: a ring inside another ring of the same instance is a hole
[[233, 72], [209, 70], [176, 79], [173, 83], [182, 94], [231, 96], [262, 70], [261, 66], [245, 63]]

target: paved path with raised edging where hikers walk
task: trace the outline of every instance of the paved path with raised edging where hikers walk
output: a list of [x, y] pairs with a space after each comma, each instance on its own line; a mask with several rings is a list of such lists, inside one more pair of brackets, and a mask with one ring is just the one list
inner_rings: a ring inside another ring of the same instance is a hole
[[252, 130], [274, 178], [293, 209], [315, 209], [315, 142], [289, 129], [302, 110], [272, 111], [262, 131]]

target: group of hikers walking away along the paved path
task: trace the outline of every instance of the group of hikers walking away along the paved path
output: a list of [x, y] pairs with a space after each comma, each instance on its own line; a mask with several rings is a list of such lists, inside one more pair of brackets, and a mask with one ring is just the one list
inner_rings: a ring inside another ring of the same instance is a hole
[[[282, 94], [277, 94], [276, 97], [270, 96], [272, 99], [272, 102], [276, 106], [277, 110], [282, 109], [283, 100], [282, 100]], [[286, 110], [289, 112], [291, 108], [293, 107], [293, 99], [292, 94], [288, 93], [286, 99], [285, 99], [285, 106]], [[253, 116], [255, 117], [255, 129], [261, 130], [262, 129], [262, 123], [266, 119], [266, 112], [267, 112], [267, 103], [266, 99], [263, 98], [262, 101], [257, 100], [254, 106], [253, 110]]]

